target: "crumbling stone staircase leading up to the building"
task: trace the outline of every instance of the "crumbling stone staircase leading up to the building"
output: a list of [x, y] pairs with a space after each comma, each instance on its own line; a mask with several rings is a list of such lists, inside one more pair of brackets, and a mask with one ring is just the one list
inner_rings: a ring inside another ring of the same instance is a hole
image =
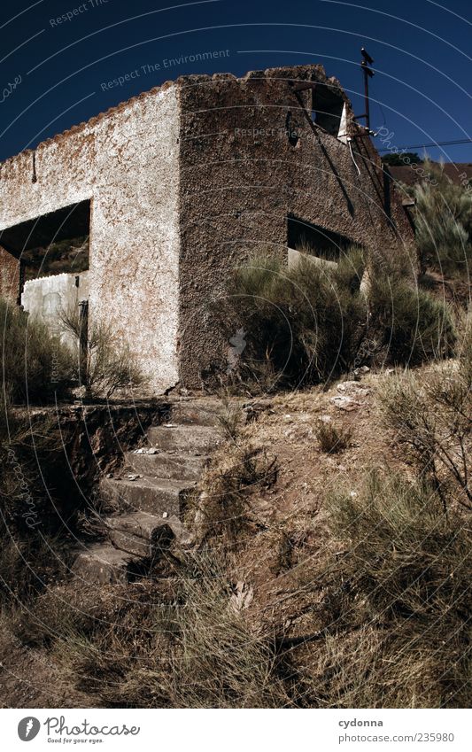
[[176, 539], [190, 545], [182, 511], [210, 454], [221, 442], [220, 403], [172, 404], [169, 423], [147, 431], [148, 446], [127, 452], [119, 477], [104, 477], [99, 493], [112, 514], [101, 519], [104, 540], [81, 547], [73, 571], [88, 583], [127, 583], [149, 576]]

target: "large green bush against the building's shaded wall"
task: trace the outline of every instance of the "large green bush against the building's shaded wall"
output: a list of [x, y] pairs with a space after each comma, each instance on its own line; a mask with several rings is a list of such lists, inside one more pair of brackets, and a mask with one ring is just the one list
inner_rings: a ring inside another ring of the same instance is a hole
[[[356, 247], [337, 266], [302, 259], [297, 267], [259, 258], [239, 267], [227, 321], [244, 329], [237, 375], [267, 391], [326, 382], [361, 360], [419, 364], [452, 353], [448, 306], [414, 286], [411, 260], [371, 254], [367, 298], [360, 292], [364, 253]], [[367, 354], [366, 354], [367, 353]]]

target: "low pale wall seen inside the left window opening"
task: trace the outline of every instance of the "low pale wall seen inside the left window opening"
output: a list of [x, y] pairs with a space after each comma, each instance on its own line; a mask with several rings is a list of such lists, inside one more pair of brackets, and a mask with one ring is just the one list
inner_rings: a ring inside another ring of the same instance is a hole
[[64, 330], [61, 314], [76, 309], [81, 300], [88, 299], [89, 272], [82, 272], [81, 275], [50, 275], [28, 280], [21, 294], [21, 305], [30, 316], [43, 322], [61, 342], [74, 347], [76, 340]]

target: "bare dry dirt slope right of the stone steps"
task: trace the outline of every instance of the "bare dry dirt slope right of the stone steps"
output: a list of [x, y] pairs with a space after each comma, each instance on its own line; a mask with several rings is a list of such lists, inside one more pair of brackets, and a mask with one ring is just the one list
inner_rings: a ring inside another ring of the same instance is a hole
[[[278, 477], [251, 500], [257, 531], [240, 541], [234, 577], [244, 592], [251, 590], [251, 616], [273, 621], [277, 632], [295, 635], [317, 628], [304, 617], [304, 593], [311, 591], [312, 603], [313, 562], [332, 545], [323, 509], [327, 495], [356, 492], [366, 473], [377, 468], [410, 475], [376, 399], [392, 377], [388, 369], [360, 381], [340, 381], [327, 392], [317, 387], [278, 395], [244, 429], [252, 446], [276, 457]], [[350, 446], [339, 454], [321, 451], [320, 422], [350, 431]]]

